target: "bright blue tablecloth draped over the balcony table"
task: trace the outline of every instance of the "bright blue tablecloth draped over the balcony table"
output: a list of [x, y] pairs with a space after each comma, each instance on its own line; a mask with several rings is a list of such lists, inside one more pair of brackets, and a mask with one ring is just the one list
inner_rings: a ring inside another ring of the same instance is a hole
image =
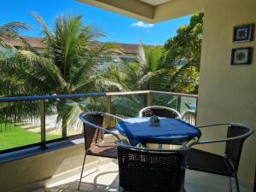
[[116, 128], [124, 133], [131, 145], [149, 138], [174, 139], [178, 137], [201, 137], [201, 131], [181, 119], [159, 118], [160, 126], [150, 126], [149, 117], [120, 120]]

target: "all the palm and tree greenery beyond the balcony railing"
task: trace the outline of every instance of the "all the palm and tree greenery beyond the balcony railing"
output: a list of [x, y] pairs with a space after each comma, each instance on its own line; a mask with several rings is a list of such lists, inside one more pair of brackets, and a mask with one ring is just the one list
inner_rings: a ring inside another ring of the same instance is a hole
[[[83, 92], [114, 90], [165, 90], [196, 93], [203, 15], [192, 15], [190, 23], [180, 26], [177, 35], [169, 38], [165, 46], [141, 44], [135, 62], [112, 64], [107, 72], [96, 71], [102, 57], [119, 51], [114, 44], [92, 46], [91, 40], [102, 36], [84, 26], [82, 15], [60, 15], [52, 31], [43, 18], [33, 14], [42, 26], [44, 54], [38, 53], [28, 44], [15, 50], [12, 57], [0, 59], [0, 96], [61, 95]], [[20, 24], [21, 29], [26, 25]], [[2, 35], [4, 42], [18, 38], [18, 28], [7, 27], [9, 35]], [[2, 30], [4, 32], [4, 30]], [[1, 45], [2, 44], [2, 45]], [[183, 63], [183, 65], [180, 65]], [[154, 98], [159, 105], [172, 106], [173, 98]], [[47, 113], [56, 111], [57, 121], [67, 135], [67, 126], [77, 127], [77, 117], [84, 110], [104, 110], [104, 98], [73, 98], [49, 101]], [[143, 108], [146, 98], [127, 96], [113, 98], [113, 111], [134, 115]], [[0, 116], [9, 122], [29, 119], [39, 115], [38, 102], [1, 104]]]

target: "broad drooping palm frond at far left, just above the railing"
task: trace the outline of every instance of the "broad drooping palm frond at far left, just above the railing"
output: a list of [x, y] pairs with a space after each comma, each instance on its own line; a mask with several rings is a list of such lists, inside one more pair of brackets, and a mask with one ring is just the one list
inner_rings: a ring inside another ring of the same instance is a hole
[[5, 84], [3, 91], [42, 95], [54, 94], [57, 88], [67, 86], [59, 69], [51, 61], [30, 51], [18, 50], [14, 57], [0, 60], [0, 69], [0, 74], [5, 78], [2, 80]]

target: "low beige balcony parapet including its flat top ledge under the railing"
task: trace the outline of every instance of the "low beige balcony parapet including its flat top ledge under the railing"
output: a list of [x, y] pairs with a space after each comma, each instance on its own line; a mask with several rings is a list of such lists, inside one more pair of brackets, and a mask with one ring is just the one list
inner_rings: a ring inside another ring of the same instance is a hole
[[[112, 140], [112, 137], [106, 137]], [[79, 175], [84, 160], [84, 138], [51, 143], [48, 146], [44, 150], [27, 148], [1, 154], [0, 191], [32, 191]], [[88, 156], [86, 169], [96, 167], [97, 160], [97, 157]]]

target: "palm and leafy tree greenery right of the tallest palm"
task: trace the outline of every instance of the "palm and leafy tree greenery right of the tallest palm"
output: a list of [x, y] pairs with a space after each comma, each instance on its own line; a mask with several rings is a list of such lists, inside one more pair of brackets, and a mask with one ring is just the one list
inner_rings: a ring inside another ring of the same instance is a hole
[[[111, 65], [105, 76], [128, 90], [164, 90], [197, 93], [202, 38], [203, 14], [192, 15], [190, 23], [180, 26], [177, 35], [164, 47], [141, 44], [137, 61]], [[173, 107], [177, 98], [154, 96], [154, 103]], [[115, 113], [131, 116], [143, 108], [142, 96], [118, 97], [113, 100]], [[128, 109], [130, 108], [130, 109]]]

